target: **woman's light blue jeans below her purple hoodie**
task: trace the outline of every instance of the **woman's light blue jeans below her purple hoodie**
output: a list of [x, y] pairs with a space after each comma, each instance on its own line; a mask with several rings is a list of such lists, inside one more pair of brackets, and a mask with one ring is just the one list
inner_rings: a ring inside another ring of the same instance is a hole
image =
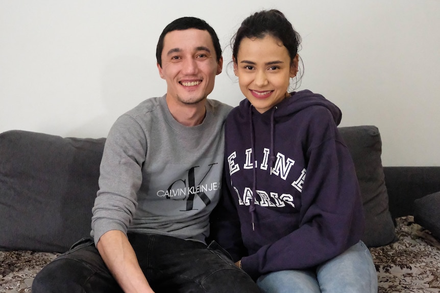
[[288, 270], [263, 275], [263, 293], [377, 293], [377, 273], [363, 242], [319, 265], [316, 270]]

